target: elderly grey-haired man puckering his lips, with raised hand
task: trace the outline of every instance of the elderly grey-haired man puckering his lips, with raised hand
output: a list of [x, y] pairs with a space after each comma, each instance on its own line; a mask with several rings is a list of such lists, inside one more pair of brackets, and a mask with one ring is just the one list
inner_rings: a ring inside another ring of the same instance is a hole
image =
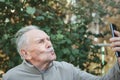
[[[119, 37], [111, 38], [114, 51], [120, 51]], [[120, 80], [120, 59], [104, 76], [95, 76], [67, 62], [55, 61], [50, 37], [36, 26], [27, 26], [16, 33], [16, 45], [23, 63], [9, 70], [3, 80]]]

